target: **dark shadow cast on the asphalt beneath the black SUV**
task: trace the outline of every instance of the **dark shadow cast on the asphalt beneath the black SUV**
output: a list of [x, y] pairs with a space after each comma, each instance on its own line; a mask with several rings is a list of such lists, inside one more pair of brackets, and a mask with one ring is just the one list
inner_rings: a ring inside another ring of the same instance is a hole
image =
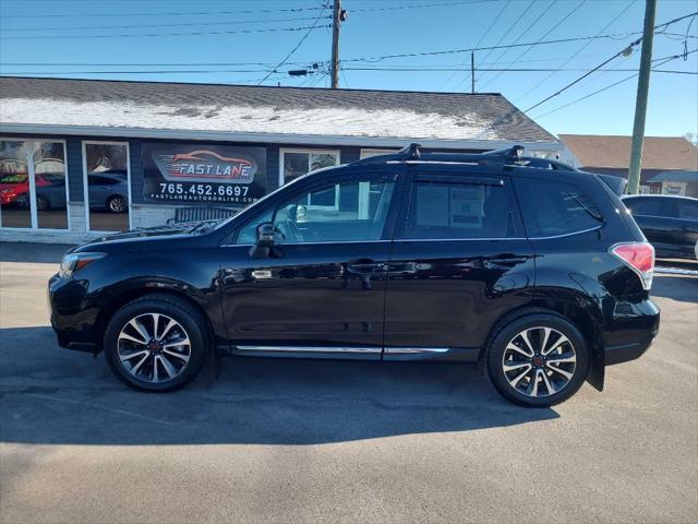
[[188, 388], [141, 393], [48, 327], [0, 330], [0, 441], [318, 444], [557, 418], [504, 401], [471, 365], [226, 357]]

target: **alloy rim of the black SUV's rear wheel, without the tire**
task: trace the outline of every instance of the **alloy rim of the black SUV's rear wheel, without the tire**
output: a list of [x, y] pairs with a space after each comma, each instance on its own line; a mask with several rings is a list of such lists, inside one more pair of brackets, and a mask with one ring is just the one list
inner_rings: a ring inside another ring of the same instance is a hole
[[514, 336], [502, 357], [504, 377], [518, 393], [550, 396], [564, 390], [577, 366], [569, 338], [552, 327], [529, 327]]

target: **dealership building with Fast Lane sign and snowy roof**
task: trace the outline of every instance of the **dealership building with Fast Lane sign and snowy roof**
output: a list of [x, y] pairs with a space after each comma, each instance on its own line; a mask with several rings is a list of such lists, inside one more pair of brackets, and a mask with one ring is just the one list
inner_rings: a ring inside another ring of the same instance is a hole
[[2, 78], [0, 240], [73, 243], [213, 216], [411, 142], [564, 148], [500, 94]]

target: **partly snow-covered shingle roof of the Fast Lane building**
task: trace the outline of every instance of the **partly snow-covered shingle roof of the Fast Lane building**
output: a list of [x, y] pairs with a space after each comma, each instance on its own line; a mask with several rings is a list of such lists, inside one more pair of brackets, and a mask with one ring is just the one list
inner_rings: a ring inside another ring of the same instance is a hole
[[0, 79], [2, 124], [557, 142], [500, 94], [27, 78]]

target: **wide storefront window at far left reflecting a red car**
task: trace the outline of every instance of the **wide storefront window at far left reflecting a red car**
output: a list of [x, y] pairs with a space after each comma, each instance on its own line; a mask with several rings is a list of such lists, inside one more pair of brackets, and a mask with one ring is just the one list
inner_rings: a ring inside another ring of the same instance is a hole
[[58, 141], [0, 141], [2, 227], [68, 228], [65, 147]]

